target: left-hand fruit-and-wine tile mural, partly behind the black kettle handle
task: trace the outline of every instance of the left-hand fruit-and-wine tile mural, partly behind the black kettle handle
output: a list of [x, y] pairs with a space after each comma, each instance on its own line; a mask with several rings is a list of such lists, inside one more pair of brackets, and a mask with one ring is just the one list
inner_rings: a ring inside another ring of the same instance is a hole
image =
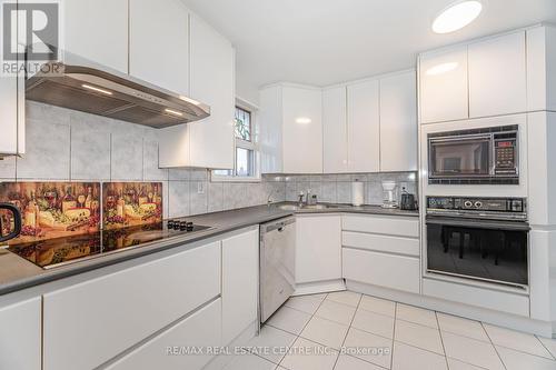
[[21, 236], [11, 244], [97, 232], [99, 182], [2, 182], [0, 201], [21, 210]]

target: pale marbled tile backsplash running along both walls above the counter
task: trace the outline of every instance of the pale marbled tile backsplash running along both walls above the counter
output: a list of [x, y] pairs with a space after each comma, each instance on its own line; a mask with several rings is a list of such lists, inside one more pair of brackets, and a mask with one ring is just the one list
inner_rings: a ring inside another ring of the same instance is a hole
[[[207, 169], [159, 169], [158, 130], [37, 102], [27, 103], [24, 158], [0, 161], [0, 181], [161, 181], [165, 218], [297, 201], [300, 191], [321, 202], [351, 202], [351, 181], [365, 181], [365, 202], [380, 204], [383, 180], [407, 182], [415, 172], [268, 174], [260, 182], [211, 182]], [[202, 184], [203, 193], [198, 193]]]

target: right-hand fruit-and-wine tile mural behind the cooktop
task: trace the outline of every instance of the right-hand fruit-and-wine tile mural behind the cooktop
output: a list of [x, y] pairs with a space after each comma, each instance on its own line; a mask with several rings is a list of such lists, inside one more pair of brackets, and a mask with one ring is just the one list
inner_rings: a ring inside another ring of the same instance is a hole
[[161, 222], [162, 183], [105, 182], [102, 210], [106, 230]]

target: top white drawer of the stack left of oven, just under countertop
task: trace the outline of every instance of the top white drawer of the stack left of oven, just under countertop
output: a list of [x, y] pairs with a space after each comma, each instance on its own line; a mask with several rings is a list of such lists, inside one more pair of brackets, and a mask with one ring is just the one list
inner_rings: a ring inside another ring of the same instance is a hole
[[418, 238], [419, 219], [398, 216], [344, 216], [341, 229], [345, 231]]

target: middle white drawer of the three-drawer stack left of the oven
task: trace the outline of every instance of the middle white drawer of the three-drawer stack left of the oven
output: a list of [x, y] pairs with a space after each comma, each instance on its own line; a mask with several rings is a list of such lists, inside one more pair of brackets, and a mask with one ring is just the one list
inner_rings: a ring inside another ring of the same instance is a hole
[[419, 257], [419, 239], [344, 231], [341, 233], [341, 244], [344, 247], [368, 249], [377, 252]]

